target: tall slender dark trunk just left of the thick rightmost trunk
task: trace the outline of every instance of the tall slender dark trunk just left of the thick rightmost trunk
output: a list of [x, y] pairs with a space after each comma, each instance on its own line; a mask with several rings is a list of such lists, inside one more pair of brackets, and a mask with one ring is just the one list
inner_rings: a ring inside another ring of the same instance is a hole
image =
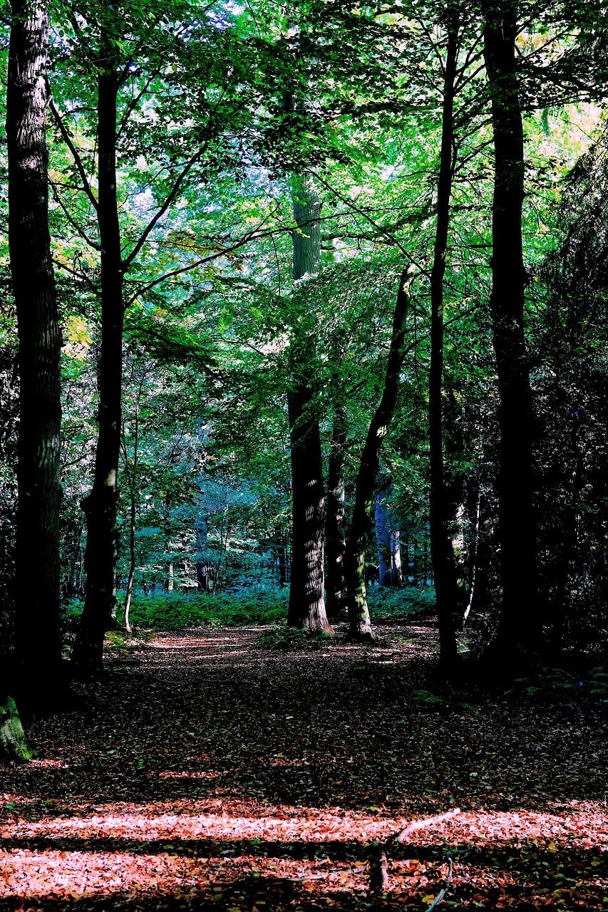
[[444, 276], [446, 275], [447, 237], [450, 197], [452, 195], [454, 146], [454, 91], [458, 25], [450, 14], [447, 31], [446, 69], [444, 75], [444, 108], [442, 115], [439, 180], [437, 183], [437, 226], [435, 252], [431, 270], [431, 368], [429, 373], [428, 420], [431, 462], [429, 496], [429, 525], [431, 562], [435, 578], [435, 599], [439, 625], [439, 658], [442, 665], [451, 667], [457, 656], [454, 632], [454, 613], [458, 594], [454, 554], [446, 527], [447, 497], [444, 479], [444, 441], [442, 389], [444, 369]]

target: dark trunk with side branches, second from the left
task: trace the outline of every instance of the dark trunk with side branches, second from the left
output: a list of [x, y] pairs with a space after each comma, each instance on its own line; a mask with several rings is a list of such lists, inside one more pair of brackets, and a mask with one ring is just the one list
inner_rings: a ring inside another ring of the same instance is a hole
[[116, 625], [117, 479], [121, 447], [124, 303], [121, 229], [116, 191], [118, 58], [108, 41], [98, 67], [98, 224], [101, 245], [101, 347], [98, 364], [99, 434], [93, 488], [81, 503], [87, 518], [87, 596], [72, 663], [79, 677], [99, 677], [103, 637]]

